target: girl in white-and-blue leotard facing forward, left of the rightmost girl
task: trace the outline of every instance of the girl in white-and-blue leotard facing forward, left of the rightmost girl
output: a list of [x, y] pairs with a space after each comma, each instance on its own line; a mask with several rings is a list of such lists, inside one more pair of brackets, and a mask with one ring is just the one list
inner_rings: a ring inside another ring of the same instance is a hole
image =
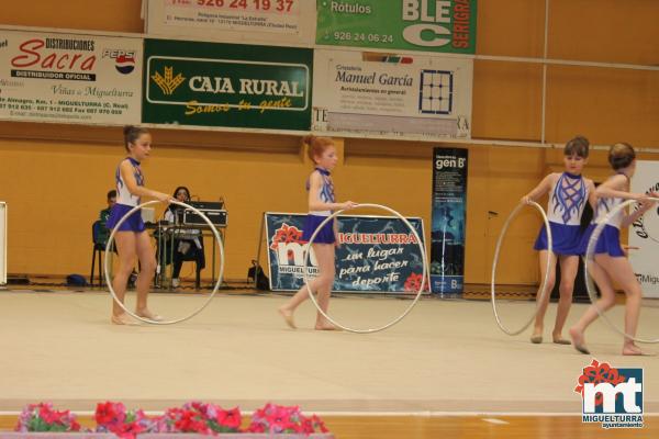
[[[589, 146], [589, 140], [583, 136], [577, 136], [569, 140], [563, 149], [565, 172], [548, 175], [533, 191], [522, 198], [522, 203], [528, 204], [549, 192], [547, 216], [552, 237], [551, 268], [549, 269], [549, 278], [543, 279], [540, 283], [543, 285], [546, 282], [545, 296], [541, 296], [541, 290], [538, 290], [536, 295], [538, 309], [534, 331], [530, 336], [530, 341], [534, 344], [543, 342], [545, 313], [556, 282], [555, 267], [557, 259], [560, 263], [560, 299], [551, 338], [558, 345], [570, 344], [570, 341], [562, 338], [562, 328], [572, 304], [574, 278], [579, 269], [581, 215], [587, 201], [590, 200], [592, 204], [595, 201], [593, 181], [581, 176], [581, 171], [588, 161]], [[534, 249], [540, 252], [541, 275], [545, 275], [547, 270], [547, 251], [549, 251], [547, 247], [547, 230], [543, 226], [534, 246]]]

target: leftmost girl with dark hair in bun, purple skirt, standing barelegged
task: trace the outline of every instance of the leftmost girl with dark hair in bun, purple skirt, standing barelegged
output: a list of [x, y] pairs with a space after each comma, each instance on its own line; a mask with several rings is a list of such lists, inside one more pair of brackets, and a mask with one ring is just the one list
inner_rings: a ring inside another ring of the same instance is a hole
[[[141, 204], [141, 196], [152, 196], [164, 202], [170, 200], [170, 196], [166, 193], [152, 191], [144, 187], [144, 175], [139, 164], [150, 154], [152, 136], [148, 131], [129, 125], [124, 127], [123, 132], [124, 147], [129, 156], [116, 168], [118, 196], [107, 223], [110, 229], [114, 228], [129, 211]], [[112, 286], [116, 297], [123, 303], [126, 282], [133, 267], [135, 267], [135, 257], [137, 257], [139, 259], [139, 275], [135, 282], [137, 288], [135, 314], [152, 320], [161, 320], [160, 316], [152, 313], [146, 306], [149, 284], [156, 272], [156, 258], [139, 211], [133, 213], [121, 225], [115, 234], [115, 241], [120, 267], [112, 281]], [[116, 302], [113, 302], [111, 322], [115, 325], [132, 325], [134, 323]]]

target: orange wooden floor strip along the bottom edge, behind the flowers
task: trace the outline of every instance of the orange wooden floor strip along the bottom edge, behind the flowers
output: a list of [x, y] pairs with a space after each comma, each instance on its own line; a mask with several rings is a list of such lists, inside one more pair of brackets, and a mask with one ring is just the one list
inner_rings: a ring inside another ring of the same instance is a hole
[[[657, 438], [659, 421], [646, 417], [643, 429], [605, 430], [578, 416], [323, 416], [336, 439], [601, 439]], [[79, 417], [92, 428], [89, 416]], [[13, 430], [16, 416], [0, 416], [1, 431]]]

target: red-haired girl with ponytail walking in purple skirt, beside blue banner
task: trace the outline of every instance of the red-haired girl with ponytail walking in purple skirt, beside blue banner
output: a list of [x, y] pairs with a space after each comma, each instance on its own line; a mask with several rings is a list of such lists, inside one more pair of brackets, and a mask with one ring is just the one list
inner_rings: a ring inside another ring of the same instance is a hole
[[[330, 172], [336, 167], [338, 156], [336, 147], [330, 137], [305, 136], [302, 139], [308, 146], [309, 158], [315, 164], [315, 169], [306, 181], [309, 191], [309, 215], [304, 222], [303, 240], [309, 240], [317, 226], [332, 214], [332, 211], [348, 210], [357, 206], [357, 203], [346, 201], [336, 203], [334, 196], [334, 183]], [[312, 248], [319, 263], [320, 274], [310, 282], [311, 289], [317, 293], [317, 302], [321, 309], [327, 313], [330, 306], [330, 294], [334, 284], [335, 264], [334, 247], [336, 239], [336, 221], [327, 223], [316, 235]], [[295, 308], [309, 299], [309, 290], [303, 285], [283, 306], [279, 314], [286, 323], [295, 328], [293, 313]], [[321, 313], [317, 313], [315, 329], [336, 329]]]

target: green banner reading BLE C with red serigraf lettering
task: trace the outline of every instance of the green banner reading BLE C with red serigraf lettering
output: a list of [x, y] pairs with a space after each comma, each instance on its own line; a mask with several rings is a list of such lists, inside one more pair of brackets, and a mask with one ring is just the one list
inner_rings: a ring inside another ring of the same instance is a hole
[[476, 53], [477, 0], [317, 0], [316, 44]]

